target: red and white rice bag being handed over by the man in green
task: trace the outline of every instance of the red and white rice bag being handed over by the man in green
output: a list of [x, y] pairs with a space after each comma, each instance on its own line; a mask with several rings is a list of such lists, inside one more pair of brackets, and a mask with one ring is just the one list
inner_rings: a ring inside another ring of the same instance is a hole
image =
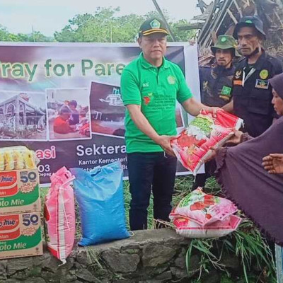
[[216, 118], [202, 110], [178, 137], [171, 140], [171, 146], [180, 163], [195, 175], [212, 155], [211, 148], [223, 145], [242, 124], [243, 120], [223, 110], [217, 111]]

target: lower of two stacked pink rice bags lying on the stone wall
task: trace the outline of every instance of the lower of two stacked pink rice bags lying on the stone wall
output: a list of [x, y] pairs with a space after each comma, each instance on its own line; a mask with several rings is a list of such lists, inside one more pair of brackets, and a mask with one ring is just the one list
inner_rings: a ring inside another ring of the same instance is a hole
[[176, 233], [186, 238], [223, 237], [235, 231], [240, 223], [241, 218], [236, 215], [228, 216], [223, 221], [216, 221], [207, 226], [201, 226], [185, 217], [178, 217], [173, 221]]

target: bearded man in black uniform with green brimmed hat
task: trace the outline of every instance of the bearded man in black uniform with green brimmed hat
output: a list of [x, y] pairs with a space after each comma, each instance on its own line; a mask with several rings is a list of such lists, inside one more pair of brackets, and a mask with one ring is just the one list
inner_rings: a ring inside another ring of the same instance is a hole
[[[217, 42], [211, 47], [216, 64], [213, 67], [200, 67], [200, 93], [204, 105], [226, 109], [232, 98], [232, 79], [235, 73], [233, 58], [239, 56], [237, 42], [231, 35], [219, 35]], [[213, 162], [213, 161], [211, 161]], [[205, 163], [205, 173], [197, 174], [193, 189], [204, 187], [207, 178], [212, 175], [213, 165]]]

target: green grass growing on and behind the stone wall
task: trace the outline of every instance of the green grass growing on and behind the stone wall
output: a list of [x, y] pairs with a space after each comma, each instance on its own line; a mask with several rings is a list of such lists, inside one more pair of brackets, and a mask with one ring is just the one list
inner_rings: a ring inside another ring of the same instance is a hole
[[[172, 204], [175, 206], [180, 200], [187, 195], [192, 188], [192, 176], [178, 177], [175, 180], [175, 192], [173, 195]], [[41, 189], [42, 207], [44, 197], [48, 192], [48, 188]], [[205, 185], [205, 192], [212, 195], [221, 195], [221, 188], [216, 183], [215, 178], [209, 178]], [[129, 193], [129, 182], [124, 182], [124, 200], [125, 200], [125, 216], [126, 224], [129, 229], [129, 203], [131, 195]], [[196, 251], [200, 252], [200, 272], [193, 282], [201, 282], [202, 275], [209, 272], [213, 268], [221, 270], [223, 276], [221, 282], [233, 282], [229, 269], [221, 264], [221, 257], [224, 253], [231, 253], [236, 255], [241, 261], [243, 267], [243, 279], [246, 283], [255, 282], [268, 282], [275, 283], [275, 263], [273, 260], [270, 246], [267, 244], [265, 238], [260, 235], [258, 229], [255, 228], [253, 222], [244, 219], [239, 226], [238, 230], [231, 233], [229, 236], [222, 238], [209, 238], [209, 239], [193, 239], [187, 249], [186, 265], [187, 271], [190, 270], [190, 257]], [[76, 204], [76, 238], [81, 238], [80, 229], [79, 207]], [[151, 195], [150, 205], [148, 209], [148, 227], [154, 229], [154, 216], [153, 216], [153, 197]], [[96, 255], [90, 255], [91, 258], [96, 258]], [[94, 262], [96, 265], [97, 261]], [[254, 275], [251, 272], [252, 267], [257, 266], [262, 270], [260, 275]], [[253, 278], [253, 279], [251, 279]]]

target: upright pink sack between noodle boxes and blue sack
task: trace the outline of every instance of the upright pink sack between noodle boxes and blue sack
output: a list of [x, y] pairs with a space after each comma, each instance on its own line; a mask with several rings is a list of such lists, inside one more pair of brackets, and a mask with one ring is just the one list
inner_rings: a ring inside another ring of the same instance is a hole
[[73, 249], [76, 232], [72, 180], [74, 176], [67, 168], [59, 169], [51, 176], [51, 187], [45, 198], [47, 248], [63, 264]]

